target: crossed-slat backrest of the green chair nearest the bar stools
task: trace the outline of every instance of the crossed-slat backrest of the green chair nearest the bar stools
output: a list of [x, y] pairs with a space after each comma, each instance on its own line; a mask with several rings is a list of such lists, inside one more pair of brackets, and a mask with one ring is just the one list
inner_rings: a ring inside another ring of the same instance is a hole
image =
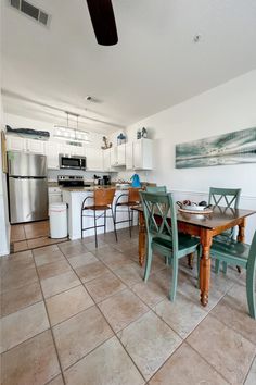
[[[171, 192], [140, 191], [148, 238], [162, 238], [172, 243], [174, 253], [178, 251], [178, 227]], [[171, 225], [170, 225], [171, 223]]]

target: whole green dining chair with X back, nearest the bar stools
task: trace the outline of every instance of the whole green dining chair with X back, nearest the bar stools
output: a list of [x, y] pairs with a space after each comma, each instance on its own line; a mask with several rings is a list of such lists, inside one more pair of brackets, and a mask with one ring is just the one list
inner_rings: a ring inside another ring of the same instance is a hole
[[[175, 301], [179, 259], [199, 251], [199, 239], [179, 234], [171, 194], [140, 191], [146, 226], [146, 263], [144, 281], [150, 276], [153, 251], [159, 252], [172, 265], [169, 298]], [[171, 223], [171, 226], [170, 226]]]

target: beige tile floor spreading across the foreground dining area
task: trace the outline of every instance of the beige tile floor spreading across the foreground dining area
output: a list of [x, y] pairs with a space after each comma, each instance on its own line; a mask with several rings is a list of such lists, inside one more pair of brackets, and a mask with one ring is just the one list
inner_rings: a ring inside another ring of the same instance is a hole
[[202, 308], [183, 259], [171, 303], [158, 256], [143, 283], [136, 233], [102, 235], [97, 250], [90, 237], [1, 258], [2, 385], [256, 384], [244, 273], [213, 272]]

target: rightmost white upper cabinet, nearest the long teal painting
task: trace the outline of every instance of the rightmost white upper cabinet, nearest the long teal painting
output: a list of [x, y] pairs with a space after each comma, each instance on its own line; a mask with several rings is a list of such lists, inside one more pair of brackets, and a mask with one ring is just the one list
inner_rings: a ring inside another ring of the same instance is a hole
[[132, 148], [133, 170], [153, 169], [153, 141], [151, 139], [138, 139]]

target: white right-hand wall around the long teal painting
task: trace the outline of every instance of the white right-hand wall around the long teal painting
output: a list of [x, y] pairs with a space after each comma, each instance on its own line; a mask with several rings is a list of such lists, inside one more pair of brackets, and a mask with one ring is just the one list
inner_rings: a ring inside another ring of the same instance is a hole
[[[143, 126], [154, 139], [154, 171], [148, 179], [166, 185], [177, 199], [207, 197], [209, 186], [241, 187], [240, 207], [256, 210], [256, 163], [175, 169], [177, 144], [256, 127], [256, 70], [133, 124], [127, 129], [129, 140]], [[248, 241], [255, 228], [253, 215]]]

